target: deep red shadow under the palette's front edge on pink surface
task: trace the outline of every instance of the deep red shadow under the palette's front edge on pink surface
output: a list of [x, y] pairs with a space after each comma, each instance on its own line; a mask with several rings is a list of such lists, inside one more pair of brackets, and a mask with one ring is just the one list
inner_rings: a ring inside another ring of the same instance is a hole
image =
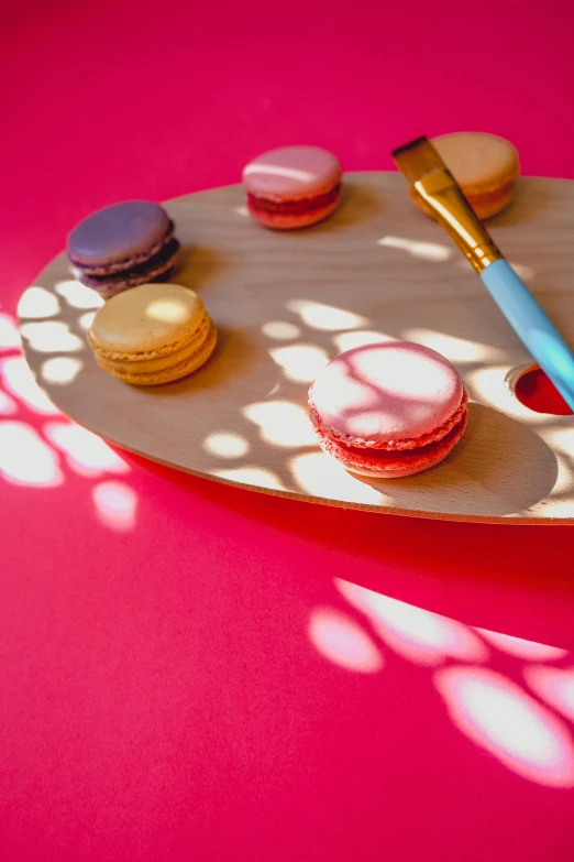
[[389, 599], [504, 632], [518, 639], [515, 645], [525, 637], [574, 650], [569, 526], [427, 521], [292, 502], [122, 457], [165, 482], [181, 504], [211, 504], [328, 550], [345, 579]]

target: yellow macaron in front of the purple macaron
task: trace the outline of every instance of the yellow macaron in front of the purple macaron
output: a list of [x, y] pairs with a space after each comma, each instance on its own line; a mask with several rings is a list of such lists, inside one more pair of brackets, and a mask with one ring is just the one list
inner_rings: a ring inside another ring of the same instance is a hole
[[216, 341], [202, 301], [178, 284], [141, 284], [112, 296], [88, 332], [98, 364], [140, 386], [190, 374], [207, 362]]

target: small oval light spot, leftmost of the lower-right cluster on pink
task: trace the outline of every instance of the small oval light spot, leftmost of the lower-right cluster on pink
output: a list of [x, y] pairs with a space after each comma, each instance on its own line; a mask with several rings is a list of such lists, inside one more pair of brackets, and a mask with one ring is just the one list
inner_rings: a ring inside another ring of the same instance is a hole
[[309, 640], [317, 651], [346, 670], [376, 674], [383, 656], [363, 629], [334, 608], [317, 608], [309, 620]]

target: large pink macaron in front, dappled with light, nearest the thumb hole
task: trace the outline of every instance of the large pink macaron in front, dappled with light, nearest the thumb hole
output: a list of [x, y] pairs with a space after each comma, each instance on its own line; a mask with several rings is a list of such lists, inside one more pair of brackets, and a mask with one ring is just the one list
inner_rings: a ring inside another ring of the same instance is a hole
[[466, 392], [435, 350], [387, 341], [347, 350], [309, 390], [319, 441], [352, 472], [398, 479], [433, 467], [461, 439]]

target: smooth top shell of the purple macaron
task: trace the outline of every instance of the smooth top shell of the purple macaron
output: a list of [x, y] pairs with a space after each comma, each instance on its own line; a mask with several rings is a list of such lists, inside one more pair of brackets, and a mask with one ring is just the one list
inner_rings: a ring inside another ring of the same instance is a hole
[[80, 221], [68, 237], [68, 254], [86, 265], [128, 260], [161, 244], [170, 229], [167, 212], [157, 204], [113, 204]]

